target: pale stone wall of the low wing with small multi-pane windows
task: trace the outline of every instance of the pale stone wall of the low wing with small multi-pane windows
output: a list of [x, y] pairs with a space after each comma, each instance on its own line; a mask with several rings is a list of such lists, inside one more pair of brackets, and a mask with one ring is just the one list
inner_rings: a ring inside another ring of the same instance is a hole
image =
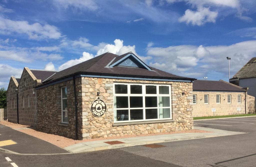
[[[245, 113], [245, 94], [244, 92], [198, 92], [194, 91], [197, 95], [197, 104], [193, 105], [193, 117], [206, 117], [213, 116], [212, 108], [216, 108], [215, 116], [237, 114], [237, 108], [241, 108], [239, 113]], [[208, 96], [208, 104], [204, 103], [204, 95]], [[220, 103], [216, 103], [216, 95], [220, 95]], [[228, 103], [227, 96], [231, 95], [231, 103]], [[241, 95], [241, 103], [238, 103], [238, 95]], [[249, 101], [254, 100], [254, 97], [247, 95], [247, 109]]]

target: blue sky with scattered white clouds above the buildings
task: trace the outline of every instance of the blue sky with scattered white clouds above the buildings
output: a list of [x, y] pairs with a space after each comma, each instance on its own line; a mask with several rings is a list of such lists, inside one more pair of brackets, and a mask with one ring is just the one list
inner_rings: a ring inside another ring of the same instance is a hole
[[62, 70], [133, 51], [172, 74], [228, 80], [256, 57], [256, 1], [0, 0], [0, 87], [24, 67]]

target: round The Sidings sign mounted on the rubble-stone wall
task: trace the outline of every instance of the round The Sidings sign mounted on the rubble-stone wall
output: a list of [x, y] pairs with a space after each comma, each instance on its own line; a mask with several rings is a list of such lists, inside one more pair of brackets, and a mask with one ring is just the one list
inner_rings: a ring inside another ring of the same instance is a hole
[[95, 117], [101, 117], [106, 112], [107, 106], [99, 97], [92, 102], [91, 112]]

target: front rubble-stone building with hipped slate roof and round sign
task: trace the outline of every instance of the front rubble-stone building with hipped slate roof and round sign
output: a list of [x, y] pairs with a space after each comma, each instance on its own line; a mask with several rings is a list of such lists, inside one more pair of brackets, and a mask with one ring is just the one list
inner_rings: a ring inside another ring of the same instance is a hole
[[35, 87], [37, 128], [79, 140], [193, 129], [193, 80], [105, 53]]

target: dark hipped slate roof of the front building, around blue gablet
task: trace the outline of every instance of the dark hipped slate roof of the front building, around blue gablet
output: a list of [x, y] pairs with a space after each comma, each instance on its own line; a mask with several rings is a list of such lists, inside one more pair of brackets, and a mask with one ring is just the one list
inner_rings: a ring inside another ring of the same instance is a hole
[[[129, 53], [127, 53], [129, 54]], [[126, 54], [126, 55], [127, 55]], [[124, 54], [125, 55], [125, 54]], [[122, 57], [124, 55], [121, 55]], [[113, 59], [120, 59], [118, 55], [112, 53], [104, 53], [100, 56], [94, 57], [87, 61], [81, 62], [77, 65], [57, 72], [55, 75], [48, 78], [44, 83], [49, 81], [58, 80], [60, 78], [71, 76], [73, 74], [95, 74], [95, 75], [111, 75], [111, 76], [126, 76], [126, 77], [157, 77], [168, 79], [182, 79], [182, 80], [194, 80], [195, 78], [181, 77], [170, 74], [168, 72], [150, 67], [152, 71], [138, 67], [122, 67], [114, 66], [113, 68], [106, 68], [106, 66]], [[116, 60], [115, 60], [116, 61]]]

